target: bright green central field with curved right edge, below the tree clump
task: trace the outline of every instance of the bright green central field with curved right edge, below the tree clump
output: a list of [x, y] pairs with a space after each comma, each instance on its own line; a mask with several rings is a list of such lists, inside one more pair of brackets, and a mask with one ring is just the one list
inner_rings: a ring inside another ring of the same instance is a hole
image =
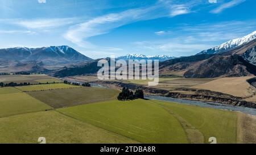
[[188, 143], [179, 121], [146, 100], [112, 100], [57, 111], [141, 143]]

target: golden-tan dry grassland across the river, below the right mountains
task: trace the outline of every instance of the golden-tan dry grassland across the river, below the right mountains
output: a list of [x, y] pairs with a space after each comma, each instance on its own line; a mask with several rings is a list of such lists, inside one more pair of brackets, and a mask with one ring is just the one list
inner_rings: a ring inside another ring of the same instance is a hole
[[250, 97], [253, 94], [250, 92], [250, 84], [246, 82], [246, 79], [252, 77], [220, 78], [201, 85], [192, 86], [192, 88], [218, 91], [236, 97]]

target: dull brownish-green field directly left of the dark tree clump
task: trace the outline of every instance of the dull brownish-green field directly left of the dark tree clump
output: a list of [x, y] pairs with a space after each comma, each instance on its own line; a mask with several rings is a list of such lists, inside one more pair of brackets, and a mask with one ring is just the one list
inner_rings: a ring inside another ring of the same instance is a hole
[[53, 108], [60, 108], [104, 100], [113, 100], [117, 98], [119, 91], [98, 87], [79, 87], [74, 89], [31, 91], [28, 92], [28, 94]]

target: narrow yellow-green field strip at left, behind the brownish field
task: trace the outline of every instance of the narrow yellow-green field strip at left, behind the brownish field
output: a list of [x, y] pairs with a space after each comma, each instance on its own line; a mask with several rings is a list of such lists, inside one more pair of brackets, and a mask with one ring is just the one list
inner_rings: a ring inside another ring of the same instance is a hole
[[64, 83], [52, 83], [43, 85], [30, 85], [30, 86], [18, 86], [16, 89], [21, 91], [42, 91], [42, 90], [52, 90], [52, 89], [70, 89], [81, 86], [68, 85]]

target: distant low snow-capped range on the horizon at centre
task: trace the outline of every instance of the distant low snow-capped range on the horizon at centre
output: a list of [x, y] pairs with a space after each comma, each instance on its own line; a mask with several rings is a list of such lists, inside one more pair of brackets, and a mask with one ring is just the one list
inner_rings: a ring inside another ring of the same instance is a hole
[[174, 56], [166, 56], [166, 55], [156, 55], [156, 56], [146, 56], [141, 54], [128, 54], [125, 56], [119, 56], [117, 59], [123, 59], [123, 60], [129, 60], [129, 59], [146, 59], [146, 60], [159, 60], [159, 61], [166, 61], [170, 59], [174, 59], [176, 57]]

